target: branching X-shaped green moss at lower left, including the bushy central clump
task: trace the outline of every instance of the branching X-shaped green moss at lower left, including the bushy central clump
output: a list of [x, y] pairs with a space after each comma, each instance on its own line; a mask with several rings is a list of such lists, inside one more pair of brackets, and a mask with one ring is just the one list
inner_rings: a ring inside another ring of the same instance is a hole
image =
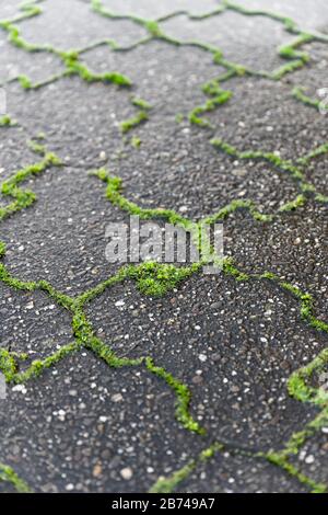
[[[0, 251], [4, 253], [4, 244], [0, 247]], [[154, 264], [155, 265], [155, 264]], [[174, 390], [177, 396], [176, 403], [176, 417], [183, 423], [184, 427], [188, 431], [194, 431], [201, 433], [201, 430], [197, 422], [195, 422], [189, 414], [189, 403], [190, 403], [190, 392], [186, 386], [180, 381], [175, 379], [171, 374], [166, 373], [163, 367], [157, 367], [150, 357], [140, 357], [140, 358], [126, 358], [118, 357], [113, 350], [106, 345], [102, 340], [94, 335], [91, 323], [87, 321], [82, 306], [92, 300], [95, 296], [99, 295], [105, 290], [106, 287], [113, 286], [114, 284], [124, 281], [125, 278], [133, 278], [136, 281], [144, 279], [144, 272], [149, 272], [150, 268], [153, 271], [153, 267], [148, 263], [144, 266], [141, 266], [142, 272], [136, 275], [136, 266], [130, 266], [122, 268], [118, 274], [107, 282], [98, 285], [96, 288], [93, 288], [83, 295], [79, 296], [75, 299], [72, 299], [60, 291], [56, 290], [50, 284], [45, 281], [39, 281], [38, 283], [28, 283], [22, 282], [15, 277], [12, 277], [11, 274], [7, 271], [3, 264], [0, 264], [0, 281], [8, 284], [9, 286], [23, 289], [23, 290], [36, 290], [40, 289], [46, 291], [51, 298], [54, 298], [60, 306], [68, 309], [72, 316], [72, 329], [73, 334], [77, 341], [70, 345], [61, 347], [59, 351], [52, 355], [46, 357], [43, 360], [35, 360], [32, 365], [25, 370], [20, 373], [17, 370], [16, 354], [10, 353], [9, 351], [0, 351], [0, 370], [4, 374], [4, 377], [8, 382], [26, 382], [32, 378], [38, 377], [43, 371], [70, 355], [71, 353], [78, 351], [82, 345], [93, 352], [98, 358], [104, 360], [108, 366], [114, 368], [121, 368], [125, 366], [141, 366], [145, 365], [147, 369], [152, 374], [155, 374], [157, 377], [165, 380], [165, 382]], [[165, 273], [163, 272], [165, 271]], [[188, 271], [190, 273], [190, 271]], [[167, 268], [164, 267], [161, 272], [157, 271], [156, 281], [161, 282], [161, 287], [163, 290], [163, 284], [165, 284], [165, 290], [169, 287], [173, 287], [177, 281], [184, 278], [179, 275], [172, 276], [172, 273], [167, 273]], [[19, 356], [20, 357], [20, 356]]]

